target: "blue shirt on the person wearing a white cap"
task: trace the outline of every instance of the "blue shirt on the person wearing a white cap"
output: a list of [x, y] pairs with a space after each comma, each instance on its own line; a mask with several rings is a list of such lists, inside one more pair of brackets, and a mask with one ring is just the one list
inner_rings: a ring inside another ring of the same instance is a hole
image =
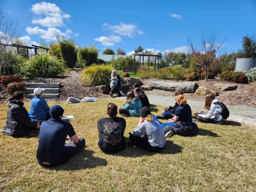
[[50, 111], [49, 106], [45, 99], [41, 97], [34, 97], [31, 100], [30, 105], [30, 118], [34, 121], [41, 120], [44, 121], [47, 111]]

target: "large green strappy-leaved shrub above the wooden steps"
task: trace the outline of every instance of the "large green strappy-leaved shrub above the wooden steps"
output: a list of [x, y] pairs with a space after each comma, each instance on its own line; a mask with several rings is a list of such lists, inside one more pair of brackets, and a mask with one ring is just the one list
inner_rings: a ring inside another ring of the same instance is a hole
[[66, 75], [67, 66], [55, 56], [48, 53], [33, 55], [26, 63], [18, 65], [14, 71], [17, 75], [53, 78], [57, 75]]

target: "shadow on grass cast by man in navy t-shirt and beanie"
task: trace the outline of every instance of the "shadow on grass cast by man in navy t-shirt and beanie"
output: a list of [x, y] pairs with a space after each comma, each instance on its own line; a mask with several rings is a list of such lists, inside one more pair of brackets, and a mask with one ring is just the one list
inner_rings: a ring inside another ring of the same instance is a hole
[[83, 170], [83, 169], [91, 169], [98, 166], [106, 166], [107, 160], [94, 157], [94, 151], [86, 150], [85, 148], [80, 149], [69, 161], [65, 164], [58, 165], [56, 167], [46, 167], [45, 169], [50, 170], [63, 170], [63, 171], [71, 171], [71, 170]]

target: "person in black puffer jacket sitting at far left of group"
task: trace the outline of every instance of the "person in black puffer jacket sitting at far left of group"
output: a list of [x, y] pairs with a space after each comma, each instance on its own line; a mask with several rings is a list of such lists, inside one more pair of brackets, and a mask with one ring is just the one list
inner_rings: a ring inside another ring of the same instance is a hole
[[6, 135], [36, 136], [33, 132], [37, 132], [40, 129], [40, 125], [39, 123], [29, 120], [28, 111], [23, 106], [23, 102], [26, 101], [24, 92], [17, 91], [13, 93], [9, 101], [7, 120], [2, 132]]

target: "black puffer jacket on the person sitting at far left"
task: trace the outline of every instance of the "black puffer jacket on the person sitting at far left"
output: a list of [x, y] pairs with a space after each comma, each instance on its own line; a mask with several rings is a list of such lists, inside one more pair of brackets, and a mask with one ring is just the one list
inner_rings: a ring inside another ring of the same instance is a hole
[[10, 101], [7, 112], [7, 120], [3, 129], [6, 135], [28, 135], [31, 128], [36, 128], [37, 123], [30, 121], [28, 111], [20, 100]]

